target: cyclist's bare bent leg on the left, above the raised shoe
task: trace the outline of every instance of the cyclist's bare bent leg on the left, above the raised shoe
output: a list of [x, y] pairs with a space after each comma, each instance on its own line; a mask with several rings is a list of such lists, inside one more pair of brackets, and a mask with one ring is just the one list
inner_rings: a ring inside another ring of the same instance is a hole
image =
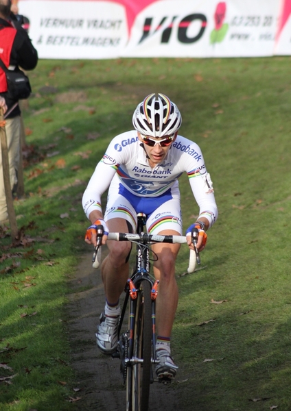
[[[110, 232], [128, 232], [124, 219], [111, 219], [106, 222]], [[128, 279], [128, 262], [130, 242], [107, 241], [108, 256], [101, 266], [102, 281], [108, 303], [117, 303]]]

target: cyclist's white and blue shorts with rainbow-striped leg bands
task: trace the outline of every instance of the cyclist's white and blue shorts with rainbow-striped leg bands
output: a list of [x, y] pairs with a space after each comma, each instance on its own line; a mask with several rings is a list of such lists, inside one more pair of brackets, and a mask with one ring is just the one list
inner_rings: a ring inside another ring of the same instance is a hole
[[143, 212], [147, 216], [146, 229], [148, 233], [159, 234], [165, 229], [170, 229], [182, 235], [178, 182], [159, 197], [138, 197], [122, 184], [111, 182], [104, 220], [125, 219], [136, 232], [139, 212]]

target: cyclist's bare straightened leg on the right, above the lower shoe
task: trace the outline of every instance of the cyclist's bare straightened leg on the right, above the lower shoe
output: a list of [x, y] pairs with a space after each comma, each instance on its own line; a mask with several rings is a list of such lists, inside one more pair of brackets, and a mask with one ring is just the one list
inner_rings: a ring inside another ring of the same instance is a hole
[[[164, 230], [161, 235], [179, 235], [172, 230]], [[156, 299], [156, 329], [160, 336], [170, 337], [176, 308], [178, 305], [178, 286], [175, 278], [175, 262], [179, 244], [158, 243], [152, 250], [159, 260], [154, 262], [154, 276], [160, 280], [159, 294]]]

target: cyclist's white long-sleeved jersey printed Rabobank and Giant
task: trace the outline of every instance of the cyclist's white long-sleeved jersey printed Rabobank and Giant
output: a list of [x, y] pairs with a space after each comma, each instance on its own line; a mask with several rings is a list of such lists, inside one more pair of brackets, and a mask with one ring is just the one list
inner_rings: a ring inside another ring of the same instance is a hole
[[110, 142], [84, 192], [84, 212], [89, 218], [93, 210], [102, 210], [101, 196], [110, 184], [111, 203], [118, 191], [129, 201], [138, 197], [153, 200], [167, 198], [177, 192], [178, 178], [184, 172], [189, 177], [191, 190], [200, 208], [199, 216], [205, 216], [211, 227], [217, 219], [218, 208], [198, 145], [177, 136], [165, 159], [152, 168], [135, 130], [119, 134]]

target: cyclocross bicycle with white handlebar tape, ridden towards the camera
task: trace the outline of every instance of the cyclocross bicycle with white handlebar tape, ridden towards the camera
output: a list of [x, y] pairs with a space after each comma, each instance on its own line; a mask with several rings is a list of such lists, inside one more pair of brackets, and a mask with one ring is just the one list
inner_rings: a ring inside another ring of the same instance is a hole
[[[126, 411], [148, 411], [150, 384], [154, 382], [152, 364], [156, 364], [156, 296], [159, 280], [150, 274], [150, 262], [157, 256], [151, 251], [154, 242], [187, 243], [185, 236], [155, 236], [143, 232], [146, 214], [137, 214], [137, 234], [109, 233], [108, 240], [131, 241], [136, 244], [135, 268], [125, 286], [126, 296], [118, 326], [117, 351], [113, 358], [120, 358], [120, 371], [126, 383]], [[93, 253], [93, 267], [100, 264], [102, 226], [97, 227], [97, 246]], [[194, 229], [190, 250], [188, 273], [193, 273], [200, 256], [196, 249], [198, 230]], [[150, 258], [150, 252], [153, 257]], [[126, 317], [128, 301], [128, 328], [121, 334]], [[167, 382], [167, 381], [165, 381]]]

